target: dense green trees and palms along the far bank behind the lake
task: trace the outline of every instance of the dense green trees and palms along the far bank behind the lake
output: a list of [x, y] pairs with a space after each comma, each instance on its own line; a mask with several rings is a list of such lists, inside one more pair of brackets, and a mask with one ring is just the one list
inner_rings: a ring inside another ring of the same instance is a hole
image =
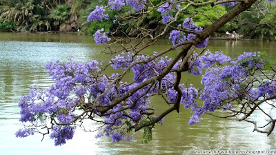
[[[152, 0], [158, 4], [163, 0]], [[203, 2], [206, 0], [195, 0]], [[16, 32], [77, 32], [80, 34], [95, 34], [98, 28], [104, 28], [110, 32], [117, 28], [112, 21], [115, 19], [115, 11], [106, 9], [110, 14], [108, 20], [88, 22], [89, 12], [95, 10], [97, 5], [108, 3], [107, 0], [0, 0], [0, 30]], [[184, 4], [185, 5], [185, 4]], [[182, 5], [182, 6], [184, 6]], [[248, 39], [274, 40], [276, 34], [276, 10], [275, 3], [256, 3], [253, 7], [243, 12], [230, 23], [219, 30], [216, 37], [221, 37], [225, 32], [237, 32]], [[181, 6], [180, 6], [181, 8]], [[210, 19], [215, 21], [230, 8], [224, 6], [204, 6], [200, 8], [190, 7], [180, 14], [179, 20], [184, 21], [192, 14], [193, 21], [201, 27], [210, 25]], [[125, 7], [119, 10], [120, 14], [132, 14], [133, 8]], [[172, 12], [173, 14], [173, 12]], [[144, 14], [144, 17], [135, 21], [141, 28], [153, 28], [161, 19], [157, 10]], [[132, 22], [132, 21], [128, 21]], [[125, 23], [124, 32], [135, 36], [135, 25]], [[156, 32], [158, 33], [158, 32]], [[120, 35], [120, 34], [119, 34]]]

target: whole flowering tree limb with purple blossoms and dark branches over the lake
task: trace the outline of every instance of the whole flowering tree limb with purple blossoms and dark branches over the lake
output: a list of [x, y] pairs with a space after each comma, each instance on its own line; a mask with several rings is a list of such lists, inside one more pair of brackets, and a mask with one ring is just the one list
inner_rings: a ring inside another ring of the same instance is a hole
[[[103, 22], [115, 17], [106, 14], [108, 9], [117, 13], [114, 20], [117, 29], [111, 30], [109, 36], [103, 28], [93, 35], [97, 44], [108, 43], [103, 52], [116, 54], [115, 57], [105, 62], [106, 65], [97, 61], [77, 63], [72, 59], [68, 63], [48, 63], [46, 69], [55, 83], [45, 90], [33, 85], [30, 94], [21, 97], [19, 121], [30, 125], [19, 130], [16, 136], [26, 137], [34, 132], [50, 134], [55, 145], [62, 145], [73, 138], [77, 127], [83, 127], [83, 121], [95, 121], [100, 125], [97, 138], [108, 136], [113, 143], [130, 141], [133, 132], [144, 130], [141, 141], [148, 143], [155, 126], [163, 123], [170, 112], [180, 112], [181, 107], [191, 110], [189, 125], [200, 123], [204, 114], [211, 114], [253, 123], [254, 131], [267, 135], [273, 132], [276, 119], [261, 105], [275, 110], [275, 103], [268, 101], [276, 98], [276, 60], [269, 59], [265, 52], [244, 52], [232, 59], [221, 51], [206, 50], [210, 35], [256, 0], [146, 2], [150, 1], [109, 0], [106, 8], [96, 6], [90, 12], [88, 21]], [[197, 25], [193, 18], [199, 17], [189, 12], [218, 5], [234, 7], [223, 16], [214, 17], [213, 23], [204, 23], [208, 24], [204, 25], [206, 28]], [[128, 11], [120, 14], [120, 9]], [[152, 14], [161, 16], [158, 22], [146, 27], [141, 24]], [[190, 16], [181, 20], [181, 14]], [[114, 37], [124, 26], [135, 28], [137, 37], [129, 37], [124, 32], [127, 39]], [[172, 40], [170, 48], [143, 53], [166, 33]], [[196, 52], [196, 48], [201, 52]], [[166, 56], [168, 53], [172, 58]], [[109, 69], [118, 72], [106, 74]], [[126, 82], [124, 78], [129, 72], [133, 79]], [[181, 83], [184, 72], [201, 75], [203, 87]], [[159, 96], [160, 103], [167, 104], [168, 109], [155, 112], [150, 101], [152, 96]], [[216, 115], [214, 112], [219, 110], [224, 113]], [[256, 110], [267, 116], [266, 128], [252, 121]]]

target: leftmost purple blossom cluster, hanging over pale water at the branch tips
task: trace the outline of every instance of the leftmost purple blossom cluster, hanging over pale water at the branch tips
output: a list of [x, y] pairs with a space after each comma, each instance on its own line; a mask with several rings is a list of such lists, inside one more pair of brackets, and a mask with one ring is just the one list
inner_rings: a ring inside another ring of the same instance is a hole
[[[30, 94], [22, 96], [19, 107], [21, 108], [21, 118], [19, 121], [41, 123], [41, 120], [55, 119], [57, 123], [70, 124], [72, 117], [75, 116], [75, 106], [79, 105], [83, 96], [86, 95], [84, 83], [93, 81], [92, 72], [99, 72], [97, 61], [90, 63], [76, 63], [71, 61], [68, 64], [61, 64], [59, 61], [48, 63], [46, 69], [50, 71], [49, 75], [55, 80], [55, 85], [50, 85], [46, 90], [40, 90], [37, 85], [30, 88]], [[70, 97], [71, 92], [76, 96]], [[42, 118], [42, 119], [41, 119]], [[57, 118], [57, 119], [56, 119]], [[38, 124], [39, 125], [39, 124]], [[72, 138], [72, 127], [54, 128], [56, 145], [65, 143], [65, 139]], [[58, 133], [59, 131], [59, 133]], [[33, 134], [34, 130], [26, 128], [19, 130], [17, 136], [25, 137]], [[62, 134], [66, 134], [62, 136]]]

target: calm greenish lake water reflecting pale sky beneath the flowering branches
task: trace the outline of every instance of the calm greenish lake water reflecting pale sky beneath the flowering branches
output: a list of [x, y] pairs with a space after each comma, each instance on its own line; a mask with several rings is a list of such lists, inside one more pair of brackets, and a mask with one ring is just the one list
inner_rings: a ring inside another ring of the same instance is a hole
[[[169, 40], [161, 40], [148, 51], [164, 50], [170, 46]], [[275, 136], [252, 132], [253, 126], [205, 116], [197, 125], [188, 125], [190, 111], [181, 109], [165, 118], [164, 124], [153, 131], [152, 141], [143, 144], [139, 141], [141, 132], [135, 136], [137, 141], [130, 143], [111, 143], [109, 138], [95, 139], [94, 132], [77, 130], [73, 140], [66, 145], [55, 147], [48, 136], [41, 142], [41, 135], [28, 138], [15, 138], [14, 133], [21, 127], [19, 123], [18, 99], [28, 94], [32, 83], [47, 87], [52, 83], [44, 70], [49, 61], [59, 59], [66, 62], [72, 56], [77, 61], [92, 59], [108, 61], [110, 56], [101, 54], [104, 46], [96, 45], [89, 36], [70, 34], [17, 34], [0, 32], [0, 154], [195, 154], [195, 150], [271, 150], [275, 147]], [[266, 51], [276, 59], [276, 42], [211, 41], [211, 51], [223, 50], [228, 56], [237, 56], [244, 51]], [[200, 77], [186, 76], [183, 82], [199, 86]], [[152, 99], [156, 111], [166, 110], [165, 103]], [[256, 114], [256, 119], [264, 117]], [[88, 124], [96, 128], [97, 124]]]

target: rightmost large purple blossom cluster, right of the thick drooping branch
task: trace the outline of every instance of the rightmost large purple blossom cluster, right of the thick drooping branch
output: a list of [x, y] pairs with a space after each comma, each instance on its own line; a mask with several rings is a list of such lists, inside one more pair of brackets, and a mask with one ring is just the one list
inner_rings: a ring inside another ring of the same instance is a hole
[[[204, 104], [192, 108], [193, 115], [190, 117], [190, 125], [199, 123], [199, 117], [206, 112], [213, 112], [217, 109], [223, 109], [225, 112], [233, 109], [235, 101], [242, 96], [248, 96], [250, 100], [255, 101], [259, 97], [275, 94], [275, 81], [266, 81], [260, 83], [258, 87], [253, 87], [252, 85], [255, 83], [251, 83], [248, 79], [250, 75], [248, 68], [262, 70], [264, 67], [264, 61], [256, 57], [260, 57], [256, 52], [244, 52], [239, 55], [237, 60], [231, 60], [222, 52], [215, 54], [206, 52], [203, 56], [199, 56], [195, 63], [197, 68], [201, 69], [199, 66], [207, 68], [201, 80], [204, 90], [201, 90], [199, 94], [199, 99]], [[231, 64], [222, 65], [226, 62]], [[201, 65], [199, 65], [200, 63]]]

